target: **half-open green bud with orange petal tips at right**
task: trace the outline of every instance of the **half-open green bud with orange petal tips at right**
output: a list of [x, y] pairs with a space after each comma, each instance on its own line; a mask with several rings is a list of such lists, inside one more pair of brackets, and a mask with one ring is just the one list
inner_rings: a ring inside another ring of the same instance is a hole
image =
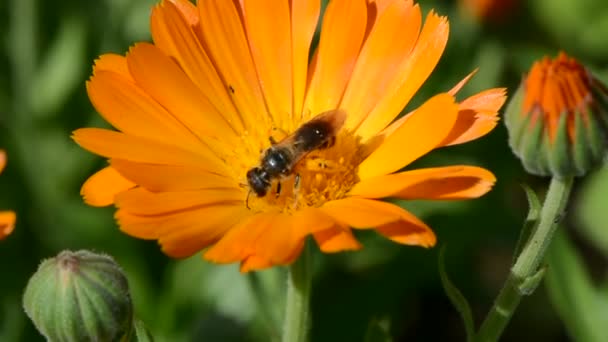
[[537, 61], [505, 113], [509, 144], [540, 176], [582, 176], [604, 160], [608, 89], [561, 52]]

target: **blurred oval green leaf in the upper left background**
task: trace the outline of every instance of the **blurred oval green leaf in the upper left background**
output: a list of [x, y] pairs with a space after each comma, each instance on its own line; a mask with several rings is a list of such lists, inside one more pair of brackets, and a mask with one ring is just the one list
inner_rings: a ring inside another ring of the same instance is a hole
[[42, 59], [29, 94], [32, 111], [39, 117], [59, 112], [76, 87], [83, 86], [86, 29], [80, 17], [63, 20], [55, 41]]

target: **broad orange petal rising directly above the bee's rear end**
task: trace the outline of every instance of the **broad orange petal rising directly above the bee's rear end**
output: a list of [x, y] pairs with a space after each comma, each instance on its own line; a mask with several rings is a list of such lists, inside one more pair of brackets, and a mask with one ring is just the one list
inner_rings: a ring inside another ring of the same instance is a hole
[[338, 107], [363, 43], [366, 23], [364, 0], [334, 0], [327, 5], [305, 116]]

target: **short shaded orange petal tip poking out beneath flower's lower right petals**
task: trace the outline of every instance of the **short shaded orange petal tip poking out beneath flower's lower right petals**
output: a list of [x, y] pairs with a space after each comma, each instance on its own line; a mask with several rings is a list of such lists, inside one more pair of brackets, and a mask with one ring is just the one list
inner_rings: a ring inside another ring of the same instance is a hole
[[437, 242], [435, 233], [424, 222], [417, 220], [417, 223], [410, 221], [400, 221], [389, 223], [376, 228], [376, 231], [388, 239], [410, 246], [432, 247]]

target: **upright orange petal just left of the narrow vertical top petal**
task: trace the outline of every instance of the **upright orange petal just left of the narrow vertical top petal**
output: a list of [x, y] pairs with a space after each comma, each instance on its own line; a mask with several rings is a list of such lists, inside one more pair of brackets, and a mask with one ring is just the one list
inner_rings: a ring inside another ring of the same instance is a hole
[[278, 127], [292, 122], [293, 67], [289, 3], [245, 0], [245, 27], [268, 111]]

